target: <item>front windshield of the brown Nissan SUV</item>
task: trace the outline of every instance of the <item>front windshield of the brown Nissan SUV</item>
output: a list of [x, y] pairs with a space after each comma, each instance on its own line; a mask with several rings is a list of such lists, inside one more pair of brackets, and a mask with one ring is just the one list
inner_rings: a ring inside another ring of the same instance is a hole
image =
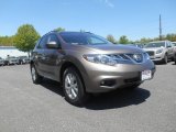
[[61, 33], [61, 36], [69, 44], [98, 45], [109, 43], [106, 38], [91, 33]]

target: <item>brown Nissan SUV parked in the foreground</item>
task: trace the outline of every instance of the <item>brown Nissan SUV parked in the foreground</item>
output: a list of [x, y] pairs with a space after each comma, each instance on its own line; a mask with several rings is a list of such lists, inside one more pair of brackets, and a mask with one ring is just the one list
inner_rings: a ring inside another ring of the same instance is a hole
[[114, 45], [87, 32], [50, 32], [32, 52], [33, 82], [43, 77], [62, 82], [73, 105], [81, 105], [89, 94], [138, 88], [154, 73], [155, 65], [143, 50]]

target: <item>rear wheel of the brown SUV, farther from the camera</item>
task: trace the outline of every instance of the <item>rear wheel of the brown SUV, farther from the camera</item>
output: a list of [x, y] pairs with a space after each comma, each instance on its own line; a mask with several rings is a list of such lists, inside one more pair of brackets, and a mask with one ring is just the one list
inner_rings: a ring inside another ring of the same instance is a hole
[[31, 76], [33, 84], [41, 84], [43, 80], [43, 77], [37, 74], [34, 65], [31, 65]]

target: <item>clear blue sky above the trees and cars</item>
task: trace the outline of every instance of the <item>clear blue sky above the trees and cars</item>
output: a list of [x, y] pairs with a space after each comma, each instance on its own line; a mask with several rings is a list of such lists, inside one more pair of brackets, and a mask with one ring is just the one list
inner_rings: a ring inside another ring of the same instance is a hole
[[176, 0], [0, 0], [0, 36], [14, 35], [22, 24], [45, 33], [62, 26], [117, 40], [136, 41], [176, 33]]

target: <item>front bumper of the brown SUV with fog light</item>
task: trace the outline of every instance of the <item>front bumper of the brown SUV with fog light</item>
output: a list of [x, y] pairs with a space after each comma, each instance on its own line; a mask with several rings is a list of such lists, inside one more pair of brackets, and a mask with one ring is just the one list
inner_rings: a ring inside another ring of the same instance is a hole
[[118, 64], [117, 66], [89, 63], [86, 70], [87, 74], [84, 74], [86, 91], [105, 92], [142, 84], [141, 73], [144, 70], [152, 70], [153, 78], [155, 65], [151, 61], [143, 64]]

